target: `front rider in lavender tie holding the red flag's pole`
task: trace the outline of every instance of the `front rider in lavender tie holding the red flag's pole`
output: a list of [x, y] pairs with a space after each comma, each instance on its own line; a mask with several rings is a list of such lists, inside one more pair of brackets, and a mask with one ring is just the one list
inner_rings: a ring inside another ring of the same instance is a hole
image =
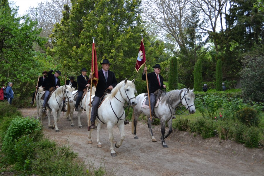
[[[104, 59], [101, 65], [102, 70], [98, 71], [98, 83], [96, 86], [95, 98], [92, 103], [92, 112], [90, 119], [92, 122], [90, 127], [91, 129], [95, 129], [95, 117], [100, 98], [102, 98], [104, 92], [106, 92], [107, 89], [111, 91], [117, 85], [114, 72], [109, 70], [111, 64], [109, 63], [108, 59]], [[89, 77], [92, 78], [92, 74], [90, 74]]]

